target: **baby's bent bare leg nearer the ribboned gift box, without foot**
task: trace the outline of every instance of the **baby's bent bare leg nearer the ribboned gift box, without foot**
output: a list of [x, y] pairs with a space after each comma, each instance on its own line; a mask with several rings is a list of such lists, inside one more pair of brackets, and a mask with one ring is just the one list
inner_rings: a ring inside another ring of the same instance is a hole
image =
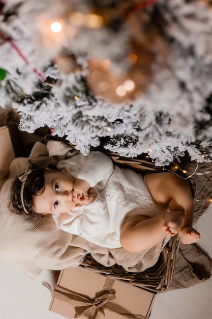
[[153, 218], [144, 216], [128, 220], [120, 231], [120, 243], [129, 252], [138, 253], [152, 248], [167, 235], [163, 229], [165, 213]]

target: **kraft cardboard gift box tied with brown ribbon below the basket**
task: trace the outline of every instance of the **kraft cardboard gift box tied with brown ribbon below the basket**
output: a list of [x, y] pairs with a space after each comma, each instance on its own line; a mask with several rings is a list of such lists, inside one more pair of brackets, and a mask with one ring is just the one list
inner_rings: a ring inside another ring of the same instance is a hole
[[80, 266], [62, 270], [51, 293], [49, 310], [70, 319], [89, 315], [96, 319], [148, 318], [156, 297], [152, 291]]

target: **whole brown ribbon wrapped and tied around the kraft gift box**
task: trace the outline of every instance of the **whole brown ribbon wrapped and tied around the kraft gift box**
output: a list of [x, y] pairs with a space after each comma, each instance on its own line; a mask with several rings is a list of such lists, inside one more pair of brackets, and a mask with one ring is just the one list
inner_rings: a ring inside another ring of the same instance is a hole
[[[115, 312], [110, 308], [107, 308], [105, 304], [108, 301], [115, 299], [115, 293], [112, 289], [114, 280], [112, 279], [106, 279], [103, 290], [101, 291], [101, 294], [99, 297], [95, 299], [88, 299], [81, 294], [75, 293], [74, 291], [71, 291], [66, 288], [62, 288], [60, 286], [55, 286], [55, 289], [52, 290], [51, 286], [43, 281], [43, 285], [48, 288], [51, 291], [51, 296], [57, 300], [65, 301], [68, 304], [71, 304], [72, 306], [76, 307], [76, 313], [74, 315], [75, 318], [78, 318], [79, 316], [88, 313], [89, 319], [104, 319], [105, 313], [104, 309], [107, 309], [110, 312]], [[123, 316], [125, 318], [129, 319], [146, 319], [146, 317], [140, 315], [140, 314], [130, 314], [130, 313], [118, 313], [120, 316]]]

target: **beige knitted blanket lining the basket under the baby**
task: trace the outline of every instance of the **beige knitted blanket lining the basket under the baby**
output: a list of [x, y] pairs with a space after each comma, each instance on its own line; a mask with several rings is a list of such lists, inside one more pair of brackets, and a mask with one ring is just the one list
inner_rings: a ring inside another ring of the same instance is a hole
[[118, 263], [128, 271], [140, 272], [154, 265], [162, 243], [142, 253], [129, 253], [123, 248], [107, 249], [59, 230], [51, 215], [29, 217], [11, 211], [12, 177], [28, 167], [29, 159], [39, 166], [56, 165], [58, 160], [73, 156], [76, 152], [63, 142], [49, 141], [47, 146], [37, 142], [29, 158], [19, 157], [12, 162], [11, 178], [0, 192], [0, 255], [32, 278], [36, 278], [45, 268], [58, 270], [76, 267], [87, 253], [107, 267]]

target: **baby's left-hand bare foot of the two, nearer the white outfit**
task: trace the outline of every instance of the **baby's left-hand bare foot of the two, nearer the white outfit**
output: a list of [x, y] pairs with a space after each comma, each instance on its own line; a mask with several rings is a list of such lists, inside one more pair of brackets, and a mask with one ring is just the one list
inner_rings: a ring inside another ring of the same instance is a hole
[[183, 210], [170, 210], [165, 214], [165, 223], [162, 228], [167, 232], [169, 236], [176, 235], [183, 225], [184, 221], [184, 212]]

